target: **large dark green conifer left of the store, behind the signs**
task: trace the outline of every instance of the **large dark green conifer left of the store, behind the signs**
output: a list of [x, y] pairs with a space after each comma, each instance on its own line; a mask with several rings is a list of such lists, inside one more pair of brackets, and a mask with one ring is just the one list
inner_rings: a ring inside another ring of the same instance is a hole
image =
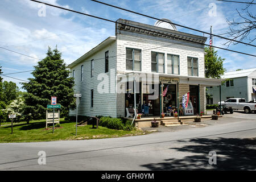
[[23, 95], [25, 120], [45, 118], [52, 96], [57, 97], [57, 104], [61, 105], [61, 115], [68, 115], [69, 109], [75, 108], [74, 80], [69, 77], [57, 47], [53, 51], [49, 47], [46, 58], [34, 68], [34, 78], [28, 78], [29, 82], [23, 83], [23, 88], [27, 90]]

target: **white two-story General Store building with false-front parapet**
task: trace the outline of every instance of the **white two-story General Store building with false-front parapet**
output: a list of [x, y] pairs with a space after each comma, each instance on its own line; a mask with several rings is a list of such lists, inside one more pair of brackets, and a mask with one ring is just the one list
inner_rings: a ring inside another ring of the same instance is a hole
[[194, 114], [205, 111], [205, 86], [222, 81], [205, 78], [207, 38], [177, 31], [164, 20], [170, 23], [118, 19], [115, 36], [68, 65], [75, 92], [82, 95], [79, 115], [126, 117], [136, 103], [138, 113], [159, 117], [166, 106], [179, 106], [188, 92]]

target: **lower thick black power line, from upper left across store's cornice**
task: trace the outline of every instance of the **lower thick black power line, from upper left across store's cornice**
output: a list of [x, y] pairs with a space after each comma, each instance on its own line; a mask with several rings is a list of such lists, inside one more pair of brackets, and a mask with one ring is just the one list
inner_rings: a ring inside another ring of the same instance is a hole
[[[106, 19], [106, 18], [101, 18], [99, 16], [94, 16], [94, 15], [90, 15], [90, 14], [86, 14], [86, 13], [82, 13], [80, 11], [75, 11], [75, 10], [71, 10], [71, 9], [67, 9], [67, 8], [64, 8], [64, 7], [60, 7], [60, 6], [56, 6], [56, 5], [51, 5], [49, 3], [45, 3], [45, 2], [41, 2], [41, 1], [36, 1], [36, 0], [30, 0], [30, 1], [34, 1], [34, 2], [38, 2], [38, 3], [43, 3], [45, 5], [48, 5], [48, 6], [52, 6], [52, 7], [56, 7], [58, 9], [63, 9], [63, 10], [67, 10], [67, 11], [72, 11], [73, 13], [78, 13], [78, 14], [82, 14], [82, 15], [86, 15], [86, 16], [91, 16], [93, 18], [97, 18], [97, 19], [102, 19], [102, 20], [105, 20], [105, 21], [108, 21], [108, 22], [112, 22], [112, 23], [118, 23], [118, 24], [121, 24], [121, 25], [124, 25], [124, 26], [130, 26], [130, 27], [133, 27], [131, 26], [130, 24], [125, 24], [125, 23], [119, 23], [119, 22], [115, 22], [113, 20], [110, 20], [110, 19]], [[93, 1], [93, 0], [92, 0]], [[159, 19], [160, 20], [160, 19]], [[170, 23], [170, 22], [168, 22]], [[138, 27], [134, 27], [134, 28], [138, 28]], [[165, 35], [165, 36], [170, 36], [172, 38], [175, 38], [175, 36], [172, 36], [170, 34], [163, 34], [163, 33], [160, 33], [160, 32], [156, 32], [156, 31], [152, 31], [152, 30], [147, 30], [147, 29], [144, 29], [144, 28], [141, 28], [142, 30], [146, 30], [146, 31], [150, 31], [150, 32], [155, 32], [156, 34], [160, 34], [160, 35]], [[206, 34], [209, 34], [208, 32], [206, 32]], [[210, 34], [210, 35], [214, 35], [214, 34]], [[215, 36], [218, 36], [218, 35], [215, 35]], [[176, 38], [175, 38], [176, 39]], [[187, 41], [187, 42], [192, 42], [192, 43], [197, 43], [197, 42], [194, 42], [192, 40], [186, 40], [186, 39], [182, 39], [182, 38], [179, 38], [181, 40], [184, 40], [184, 41]], [[226, 39], [226, 38], [225, 38]], [[208, 44], [203, 44], [203, 43], [197, 43], [197, 44], [201, 44], [201, 45], [204, 45], [204, 46], [210, 46]], [[239, 52], [239, 51], [233, 51], [233, 50], [230, 50], [230, 49], [226, 49], [226, 48], [221, 48], [221, 47], [216, 47], [216, 46], [211, 46], [211, 47], [214, 47], [214, 48], [219, 48], [219, 49], [224, 49], [226, 51], [232, 51], [232, 52], [236, 52], [236, 53], [242, 53], [244, 55], [249, 55], [249, 56], [254, 56], [255, 55], [251, 55], [249, 53], [244, 53], [244, 52]], [[255, 46], [256, 47], [256, 46]]]

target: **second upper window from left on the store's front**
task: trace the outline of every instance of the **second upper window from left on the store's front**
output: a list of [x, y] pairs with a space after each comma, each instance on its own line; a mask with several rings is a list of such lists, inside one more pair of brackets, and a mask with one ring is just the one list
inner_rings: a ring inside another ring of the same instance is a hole
[[151, 52], [151, 71], [164, 73], [164, 53]]

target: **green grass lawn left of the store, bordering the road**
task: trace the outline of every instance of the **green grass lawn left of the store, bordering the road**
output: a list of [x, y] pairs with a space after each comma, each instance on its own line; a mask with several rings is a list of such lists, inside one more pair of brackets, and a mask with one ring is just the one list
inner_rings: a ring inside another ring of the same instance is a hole
[[60, 119], [61, 127], [56, 128], [54, 130], [54, 134], [52, 133], [52, 125], [48, 125], [48, 130], [46, 130], [45, 119], [39, 121], [31, 121], [29, 124], [26, 122], [15, 123], [13, 126], [13, 134], [11, 134], [11, 125], [9, 124], [10, 123], [1, 123], [0, 143], [99, 139], [143, 134], [143, 131], [141, 130], [112, 130], [101, 126], [99, 126], [98, 129], [92, 129], [92, 125], [87, 125], [77, 127], [76, 136], [76, 123], [67, 122], [64, 121], [64, 119]]

